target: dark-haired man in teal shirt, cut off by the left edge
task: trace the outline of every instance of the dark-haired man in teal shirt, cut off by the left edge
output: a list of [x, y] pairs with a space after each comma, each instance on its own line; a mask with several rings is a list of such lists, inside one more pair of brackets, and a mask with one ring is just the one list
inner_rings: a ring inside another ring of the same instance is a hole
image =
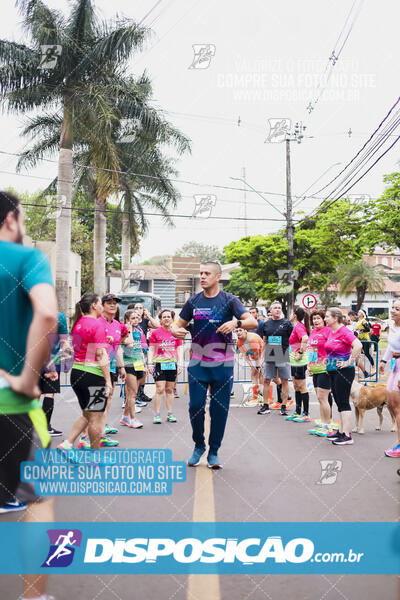
[[[20, 464], [48, 448], [46, 417], [37, 398], [39, 375], [57, 331], [57, 300], [46, 256], [22, 245], [22, 206], [0, 192], [0, 299], [7, 318], [0, 321], [0, 506], [12, 510], [27, 502], [26, 522], [53, 521], [52, 499], [38, 498], [33, 484], [21, 483]], [[5, 509], [5, 510], [4, 510]], [[24, 577], [24, 598], [45, 593], [45, 575]]]

